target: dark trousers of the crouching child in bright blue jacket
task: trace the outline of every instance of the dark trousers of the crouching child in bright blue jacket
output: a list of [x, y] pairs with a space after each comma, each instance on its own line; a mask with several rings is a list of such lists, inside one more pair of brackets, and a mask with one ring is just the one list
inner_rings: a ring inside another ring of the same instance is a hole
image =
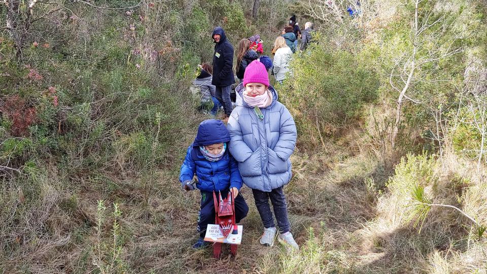
[[[229, 189], [222, 190], [222, 198], [226, 198]], [[218, 192], [216, 192], [218, 197]], [[247, 216], [249, 206], [243, 199], [242, 195], [238, 193], [235, 198], [235, 222], [239, 223], [241, 219]], [[201, 208], [198, 216], [198, 232], [199, 236], [204, 238], [206, 233], [206, 226], [215, 223], [215, 203], [213, 202], [213, 192], [201, 191]]]

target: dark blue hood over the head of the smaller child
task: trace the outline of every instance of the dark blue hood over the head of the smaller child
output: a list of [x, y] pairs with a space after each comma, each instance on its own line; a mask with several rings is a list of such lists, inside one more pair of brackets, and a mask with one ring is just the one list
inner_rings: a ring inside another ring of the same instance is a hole
[[221, 120], [209, 119], [199, 124], [193, 147], [230, 142], [230, 134]]

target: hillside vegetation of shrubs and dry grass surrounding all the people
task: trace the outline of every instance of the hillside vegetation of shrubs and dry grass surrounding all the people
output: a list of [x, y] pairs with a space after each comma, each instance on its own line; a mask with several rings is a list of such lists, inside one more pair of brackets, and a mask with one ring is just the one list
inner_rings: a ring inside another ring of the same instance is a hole
[[[0, 271], [487, 272], [487, 3], [258, 2], [0, 3]], [[292, 14], [317, 30], [275, 84], [300, 251], [260, 246], [244, 187], [239, 253], [216, 260], [178, 180], [210, 118], [189, 87], [215, 26], [270, 56]]]

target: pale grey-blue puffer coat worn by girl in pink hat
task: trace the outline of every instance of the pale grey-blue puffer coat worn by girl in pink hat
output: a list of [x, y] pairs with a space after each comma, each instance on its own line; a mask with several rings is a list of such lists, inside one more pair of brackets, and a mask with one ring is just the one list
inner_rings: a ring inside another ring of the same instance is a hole
[[[243, 183], [253, 189], [271, 191], [291, 180], [291, 154], [296, 145], [296, 125], [288, 109], [277, 101], [272, 92], [272, 103], [262, 108], [261, 121], [254, 109], [242, 98], [228, 120], [229, 150], [238, 161]], [[243, 84], [235, 89], [242, 97]]]

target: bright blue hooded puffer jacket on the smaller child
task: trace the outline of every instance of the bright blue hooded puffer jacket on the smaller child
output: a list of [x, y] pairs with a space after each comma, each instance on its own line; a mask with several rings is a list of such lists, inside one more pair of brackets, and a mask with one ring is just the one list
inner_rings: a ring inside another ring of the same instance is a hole
[[198, 178], [196, 187], [202, 191], [219, 191], [232, 187], [240, 189], [242, 178], [238, 172], [238, 163], [228, 152], [223, 157], [211, 162], [204, 158], [199, 146], [227, 143], [230, 136], [225, 125], [220, 120], [205, 120], [198, 128], [198, 133], [193, 144], [189, 146], [186, 158], [181, 166], [179, 180], [193, 180], [194, 175]]

